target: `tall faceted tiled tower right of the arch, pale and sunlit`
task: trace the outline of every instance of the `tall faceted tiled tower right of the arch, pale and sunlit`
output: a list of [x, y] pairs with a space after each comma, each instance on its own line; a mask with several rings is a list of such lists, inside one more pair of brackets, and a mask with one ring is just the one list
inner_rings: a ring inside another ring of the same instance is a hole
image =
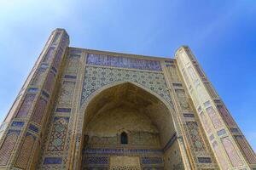
[[249, 163], [255, 163], [255, 154], [194, 55], [188, 47], [182, 47], [175, 57], [219, 167], [249, 169]]

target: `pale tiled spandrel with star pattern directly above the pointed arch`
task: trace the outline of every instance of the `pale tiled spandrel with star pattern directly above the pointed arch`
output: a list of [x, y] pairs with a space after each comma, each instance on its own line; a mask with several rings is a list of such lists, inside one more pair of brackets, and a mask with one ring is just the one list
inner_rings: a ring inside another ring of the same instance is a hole
[[143, 87], [159, 94], [172, 106], [172, 99], [167, 91], [166, 80], [162, 73], [147, 71], [129, 71], [115, 68], [87, 66], [84, 74], [84, 85], [81, 104], [90, 94], [113, 82], [137, 82]]

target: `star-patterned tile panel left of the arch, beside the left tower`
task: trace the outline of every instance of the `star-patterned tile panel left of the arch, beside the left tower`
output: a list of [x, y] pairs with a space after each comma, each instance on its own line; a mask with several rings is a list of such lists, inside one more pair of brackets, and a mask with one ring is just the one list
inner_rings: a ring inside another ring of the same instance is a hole
[[53, 129], [49, 138], [49, 151], [64, 150], [68, 122], [68, 117], [55, 117]]

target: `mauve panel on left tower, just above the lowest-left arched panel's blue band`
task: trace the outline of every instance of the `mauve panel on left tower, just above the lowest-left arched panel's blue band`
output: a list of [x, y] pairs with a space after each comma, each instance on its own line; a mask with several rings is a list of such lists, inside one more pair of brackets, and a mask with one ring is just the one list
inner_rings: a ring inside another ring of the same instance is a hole
[[17, 113], [18, 118], [25, 118], [29, 111], [32, 109], [32, 103], [36, 97], [36, 94], [26, 94], [23, 103], [20, 105], [20, 110]]

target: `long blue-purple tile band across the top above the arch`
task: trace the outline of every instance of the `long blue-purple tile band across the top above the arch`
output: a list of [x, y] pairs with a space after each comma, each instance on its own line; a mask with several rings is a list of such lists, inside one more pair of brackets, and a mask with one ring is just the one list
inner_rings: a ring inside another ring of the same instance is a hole
[[133, 59], [102, 54], [88, 54], [87, 64], [132, 68], [148, 71], [162, 71], [160, 62], [149, 59]]

